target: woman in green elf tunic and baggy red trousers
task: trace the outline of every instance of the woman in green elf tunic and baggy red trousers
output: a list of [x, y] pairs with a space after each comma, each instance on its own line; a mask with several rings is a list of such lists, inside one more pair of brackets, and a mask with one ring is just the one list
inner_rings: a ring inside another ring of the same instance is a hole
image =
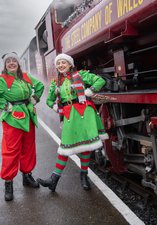
[[23, 73], [20, 59], [15, 52], [3, 57], [4, 69], [0, 75], [0, 120], [2, 121], [1, 178], [5, 180], [5, 200], [13, 199], [13, 179], [18, 169], [23, 175], [23, 185], [38, 188], [32, 170], [36, 165], [35, 126], [36, 103], [44, 85]]

